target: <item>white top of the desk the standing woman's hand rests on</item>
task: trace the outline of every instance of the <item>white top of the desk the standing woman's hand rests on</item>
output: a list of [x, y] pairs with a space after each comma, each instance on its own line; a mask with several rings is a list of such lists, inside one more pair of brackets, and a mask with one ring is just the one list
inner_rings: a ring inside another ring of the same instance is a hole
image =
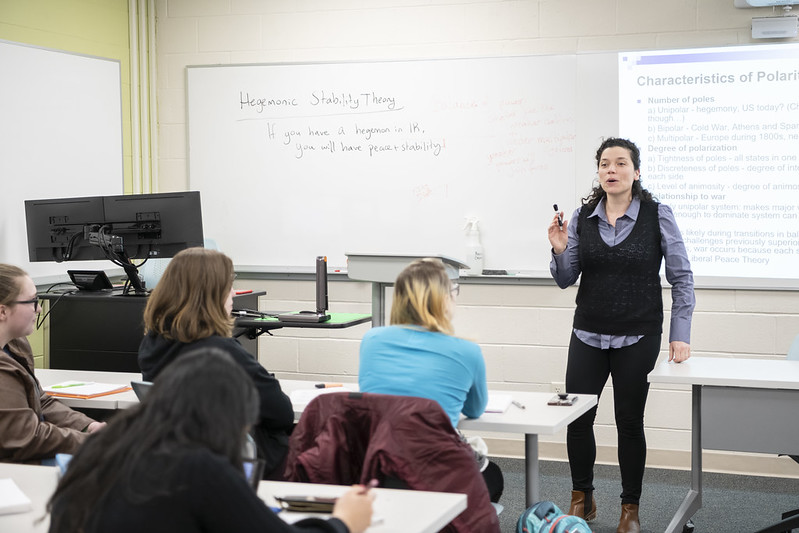
[[649, 382], [796, 390], [799, 361], [691, 357], [682, 363], [660, 363], [649, 374]]

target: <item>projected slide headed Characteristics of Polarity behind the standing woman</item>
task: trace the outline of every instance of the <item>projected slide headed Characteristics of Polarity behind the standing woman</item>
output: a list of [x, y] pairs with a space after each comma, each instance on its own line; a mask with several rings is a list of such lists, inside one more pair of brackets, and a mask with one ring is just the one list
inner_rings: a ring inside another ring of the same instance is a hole
[[799, 285], [799, 45], [620, 53], [619, 110], [697, 278]]

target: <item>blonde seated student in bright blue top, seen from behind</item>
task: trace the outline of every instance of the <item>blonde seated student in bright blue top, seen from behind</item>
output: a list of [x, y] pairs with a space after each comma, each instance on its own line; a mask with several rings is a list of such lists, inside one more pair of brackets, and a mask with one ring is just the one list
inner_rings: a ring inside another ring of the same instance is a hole
[[[453, 426], [461, 413], [469, 418], [483, 414], [488, 403], [483, 354], [477, 344], [452, 334], [457, 293], [439, 259], [418, 259], [400, 272], [391, 326], [373, 328], [361, 341], [362, 392], [435, 400]], [[480, 460], [491, 501], [498, 502], [502, 472], [486, 458]]]

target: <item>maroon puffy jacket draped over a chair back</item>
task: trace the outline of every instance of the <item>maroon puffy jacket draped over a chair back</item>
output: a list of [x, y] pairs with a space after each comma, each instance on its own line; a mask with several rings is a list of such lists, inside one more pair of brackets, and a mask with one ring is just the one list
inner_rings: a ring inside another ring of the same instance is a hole
[[468, 507], [442, 531], [499, 532], [472, 449], [426, 398], [318, 396], [291, 435], [285, 477], [343, 485], [395, 478], [414, 490], [465, 493]]

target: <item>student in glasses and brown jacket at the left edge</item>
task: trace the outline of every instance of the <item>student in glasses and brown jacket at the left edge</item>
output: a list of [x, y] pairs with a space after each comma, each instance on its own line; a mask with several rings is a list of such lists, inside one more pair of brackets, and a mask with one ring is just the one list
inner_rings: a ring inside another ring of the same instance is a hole
[[25, 338], [41, 311], [36, 285], [21, 268], [0, 264], [0, 461], [34, 463], [73, 453], [105, 426], [42, 392]]

